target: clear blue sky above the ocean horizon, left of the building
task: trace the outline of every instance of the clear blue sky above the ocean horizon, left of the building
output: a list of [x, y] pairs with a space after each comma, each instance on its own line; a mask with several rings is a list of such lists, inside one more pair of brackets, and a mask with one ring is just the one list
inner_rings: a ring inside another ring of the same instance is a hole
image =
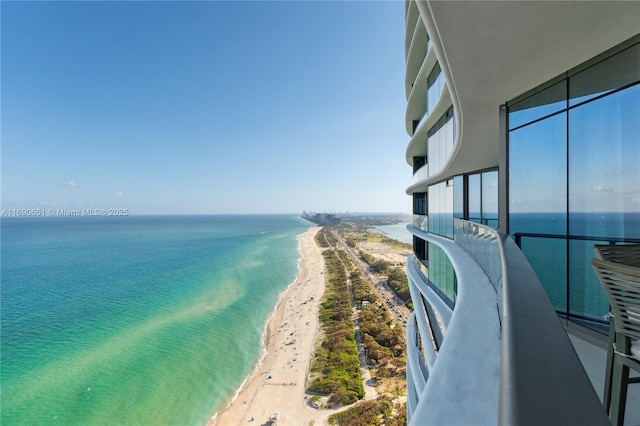
[[1, 8], [3, 208], [410, 212], [402, 1]]

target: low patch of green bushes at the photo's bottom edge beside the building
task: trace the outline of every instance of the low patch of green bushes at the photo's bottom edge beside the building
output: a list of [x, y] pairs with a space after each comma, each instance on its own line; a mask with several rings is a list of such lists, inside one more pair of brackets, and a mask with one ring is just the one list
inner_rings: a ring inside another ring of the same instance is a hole
[[329, 423], [340, 426], [401, 426], [407, 424], [406, 404], [395, 412], [391, 398], [380, 396], [373, 401], [362, 401], [348, 410], [329, 416]]

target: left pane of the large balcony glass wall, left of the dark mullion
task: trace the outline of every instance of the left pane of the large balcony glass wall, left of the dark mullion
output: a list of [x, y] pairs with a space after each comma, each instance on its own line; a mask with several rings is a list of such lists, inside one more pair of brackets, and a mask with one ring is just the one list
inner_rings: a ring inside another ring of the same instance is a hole
[[[560, 311], [567, 304], [567, 243], [553, 236], [567, 233], [566, 134], [565, 114], [509, 133], [510, 232]], [[550, 237], [518, 237], [521, 233]]]

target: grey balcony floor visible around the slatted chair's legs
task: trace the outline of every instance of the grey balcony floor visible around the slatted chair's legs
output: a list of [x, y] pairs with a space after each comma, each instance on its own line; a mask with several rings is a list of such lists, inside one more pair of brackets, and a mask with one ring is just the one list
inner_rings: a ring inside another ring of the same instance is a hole
[[[604, 370], [607, 360], [607, 336], [572, 323], [567, 325], [564, 320], [562, 322], [565, 324], [571, 343], [573, 343], [573, 347], [587, 371], [591, 384], [602, 400]], [[632, 375], [637, 376], [638, 374], [634, 374], [632, 371]], [[625, 426], [640, 425], [640, 383], [629, 385], [624, 420]]]

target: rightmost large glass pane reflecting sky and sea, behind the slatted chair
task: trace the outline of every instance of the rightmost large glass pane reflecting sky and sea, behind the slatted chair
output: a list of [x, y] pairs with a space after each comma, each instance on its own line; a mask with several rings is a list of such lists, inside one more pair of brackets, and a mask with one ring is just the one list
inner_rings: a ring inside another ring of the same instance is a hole
[[589, 259], [603, 238], [640, 238], [640, 85], [569, 112], [570, 309], [601, 319], [609, 303]]

